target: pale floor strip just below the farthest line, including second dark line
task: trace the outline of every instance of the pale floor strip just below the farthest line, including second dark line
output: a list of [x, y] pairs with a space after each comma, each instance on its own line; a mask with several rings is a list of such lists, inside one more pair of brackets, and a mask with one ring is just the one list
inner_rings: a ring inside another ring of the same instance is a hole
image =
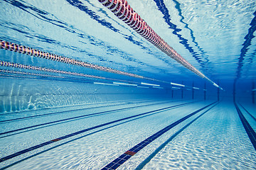
[[[107, 113], [114, 113], [117, 111], [125, 111], [129, 109], [139, 108], [140, 106], [147, 106], [147, 105], [157, 105], [161, 106], [161, 103], [171, 104], [172, 102], [176, 101], [144, 101], [144, 102], [137, 102], [137, 103], [122, 103], [122, 105], [114, 105], [114, 106], [105, 106], [100, 108], [98, 106], [90, 107], [90, 108], [75, 108], [74, 110], [68, 111], [60, 111], [60, 112], [53, 112], [54, 114], [50, 113], [47, 116], [37, 116], [34, 118], [28, 118], [23, 120], [16, 120], [11, 122], [0, 123], [1, 130], [0, 130], [0, 139], [9, 135], [15, 135], [18, 133], [23, 133], [31, 130], [35, 130], [37, 128], [46, 128], [47, 126], [55, 126], [60, 125], [62, 123], [68, 123], [70, 121], [79, 121], [82, 119], [87, 119], [93, 116], [107, 114]], [[150, 106], [149, 106], [150, 107]], [[64, 113], [63, 113], [64, 112]], [[58, 113], [58, 114], [56, 114]], [[37, 115], [44, 115], [44, 112], [37, 113]], [[49, 114], [49, 113], [46, 113]]]

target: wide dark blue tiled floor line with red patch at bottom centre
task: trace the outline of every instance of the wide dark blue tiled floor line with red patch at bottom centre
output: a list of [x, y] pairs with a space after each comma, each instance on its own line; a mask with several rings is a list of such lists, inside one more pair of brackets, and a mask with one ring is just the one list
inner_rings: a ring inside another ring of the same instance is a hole
[[[214, 102], [216, 103], [216, 102]], [[171, 123], [171, 125], [166, 126], [166, 128], [159, 130], [159, 132], [154, 133], [154, 135], [151, 135], [150, 137], [146, 138], [146, 140], [140, 142], [139, 144], [135, 145], [131, 149], [127, 150], [127, 152], [124, 152], [121, 156], [119, 156], [117, 159], [114, 159], [114, 161], [110, 162], [110, 164], [107, 164], [102, 170], [108, 170], [108, 169], [117, 169], [119, 166], [124, 164], [130, 157], [134, 156], [137, 152], [139, 152], [141, 149], [146, 147], [146, 145], [149, 145], [149, 143], [156, 140], [156, 138], [163, 135], [165, 132], [171, 130], [171, 128], [174, 128], [179, 123], [182, 123], [184, 120], [190, 118], [192, 115], [195, 115], [196, 113], [203, 111], [205, 108], [208, 108], [209, 106], [213, 105], [214, 103], [209, 104], [208, 106], [205, 106], [203, 108], [198, 109], [197, 111], [194, 111], [193, 113], [186, 115], [185, 117], [181, 118], [180, 120], [177, 120], [175, 123]]]

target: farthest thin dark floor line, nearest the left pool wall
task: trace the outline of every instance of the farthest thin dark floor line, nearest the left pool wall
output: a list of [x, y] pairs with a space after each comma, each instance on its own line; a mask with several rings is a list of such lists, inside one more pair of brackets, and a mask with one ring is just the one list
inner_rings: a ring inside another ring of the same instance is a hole
[[[147, 103], [147, 102], [151, 102], [151, 101], [140, 101], [137, 103]], [[169, 102], [171, 102], [171, 101], [169, 101]], [[93, 109], [93, 108], [105, 108], [105, 107], [120, 106], [120, 105], [127, 105], [127, 104], [134, 104], [134, 103], [125, 102], [125, 103], [112, 104], [112, 105], [107, 105], [107, 106], [95, 106], [95, 107], [91, 107], [91, 108], [78, 108], [78, 109], [73, 109], [73, 110], [68, 110], [68, 111], [58, 111], [58, 112], [54, 112], [54, 113], [46, 113], [46, 114], [41, 114], [41, 115], [31, 115], [31, 116], [27, 116], [27, 117], [23, 117], [23, 118], [1, 120], [0, 123], [9, 123], [12, 121], [24, 120], [24, 119], [29, 119], [29, 118], [38, 118], [38, 117], [43, 117], [43, 116], [48, 116], [48, 115], [55, 115], [55, 114], [59, 114], [59, 113], [68, 113], [68, 112], [73, 112], [73, 111], [83, 111], [83, 110], [88, 110], [88, 109]]]

